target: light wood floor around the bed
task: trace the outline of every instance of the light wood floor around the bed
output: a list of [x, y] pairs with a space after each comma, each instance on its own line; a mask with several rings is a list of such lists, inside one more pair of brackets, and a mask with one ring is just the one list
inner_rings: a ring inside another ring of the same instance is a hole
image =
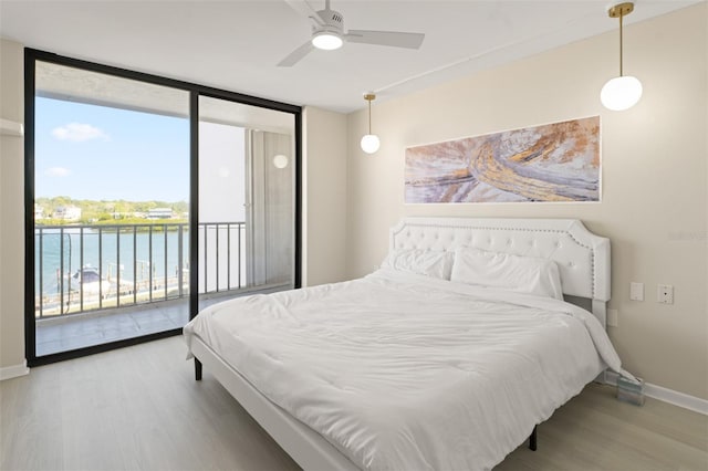
[[[294, 470], [180, 337], [0, 383], [1, 470]], [[591, 385], [497, 470], [708, 470], [708, 417]]]

